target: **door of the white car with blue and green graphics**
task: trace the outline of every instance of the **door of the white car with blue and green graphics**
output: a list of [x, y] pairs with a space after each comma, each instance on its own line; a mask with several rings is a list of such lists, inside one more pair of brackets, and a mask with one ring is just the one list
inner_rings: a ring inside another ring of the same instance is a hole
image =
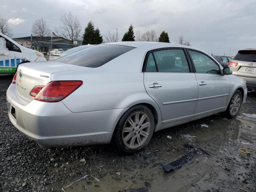
[[[2, 37], [2, 36], [0, 36]], [[4, 37], [2, 37], [4, 38]], [[8, 48], [8, 55], [0, 55], [0, 73], [14, 73], [15, 68], [15, 55], [12, 48], [12, 43], [6, 40], [6, 48]]]

